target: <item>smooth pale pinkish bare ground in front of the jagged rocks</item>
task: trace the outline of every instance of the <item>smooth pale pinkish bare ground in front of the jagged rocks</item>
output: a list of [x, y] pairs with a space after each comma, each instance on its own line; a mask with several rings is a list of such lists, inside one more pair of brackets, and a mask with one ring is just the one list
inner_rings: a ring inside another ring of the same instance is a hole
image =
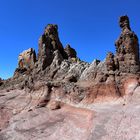
[[36, 102], [24, 91], [1, 91], [0, 140], [140, 140], [140, 87], [87, 108], [51, 111]]

